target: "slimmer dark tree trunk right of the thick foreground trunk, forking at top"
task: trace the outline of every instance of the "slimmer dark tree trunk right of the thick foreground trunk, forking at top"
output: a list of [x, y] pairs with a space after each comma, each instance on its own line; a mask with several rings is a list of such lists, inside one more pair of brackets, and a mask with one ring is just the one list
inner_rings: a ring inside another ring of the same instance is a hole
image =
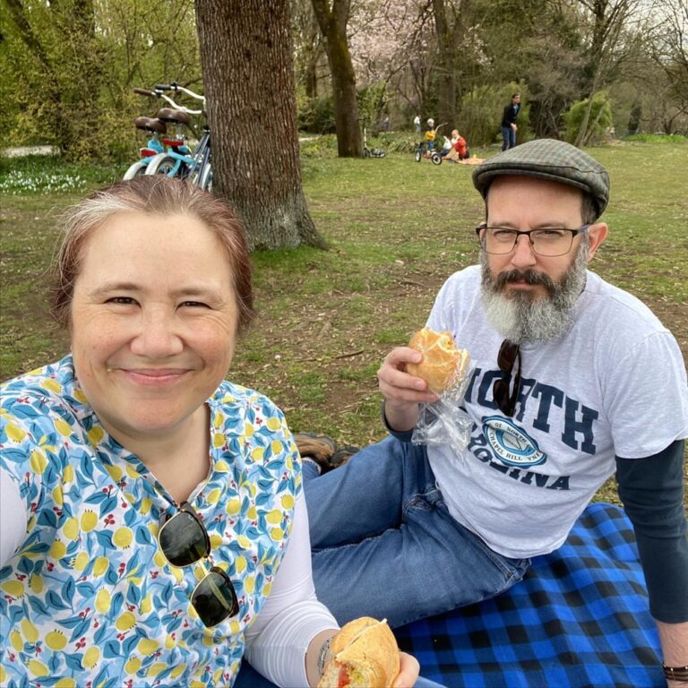
[[330, 63], [337, 151], [340, 158], [360, 158], [363, 142], [358, 125], [356, 73], [347, 41], [349, 0], [331, 0], [331, 7], [330, 0], [313, 0], [313, 10]]

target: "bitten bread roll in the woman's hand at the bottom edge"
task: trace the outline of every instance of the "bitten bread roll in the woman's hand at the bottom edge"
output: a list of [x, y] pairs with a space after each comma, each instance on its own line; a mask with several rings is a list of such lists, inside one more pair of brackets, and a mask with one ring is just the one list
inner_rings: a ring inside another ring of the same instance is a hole
[[318, 688], [390, 688], [399, 674], [399, 648], [384, 621], [350, 621], [332, 639], [332, 659]]

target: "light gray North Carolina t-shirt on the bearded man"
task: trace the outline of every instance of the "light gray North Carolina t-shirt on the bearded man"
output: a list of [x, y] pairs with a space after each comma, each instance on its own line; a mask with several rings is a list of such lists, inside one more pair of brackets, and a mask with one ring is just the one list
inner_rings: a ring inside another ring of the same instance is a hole
[[520, 400], [493, 400], [503, 337], [486, 322], [480, 268], [445, 282], [427, 325], [471, 355], [468, 448], [428, 447], [452, 516], [514, 558], [563, 544], [615, 455], [639, 459], [688, 436], [688, 385], [673, 337], [637, 298], [593, 272], [562, 338], [521, 345]]

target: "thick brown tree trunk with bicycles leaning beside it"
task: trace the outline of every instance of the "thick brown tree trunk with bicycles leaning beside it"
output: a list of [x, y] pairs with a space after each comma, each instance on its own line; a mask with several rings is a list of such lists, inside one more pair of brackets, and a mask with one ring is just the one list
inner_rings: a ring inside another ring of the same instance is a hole
[[288, 0], [196, 0], [213, 192], [243, 220], [249, 247], [325, 248], [298, 158]]

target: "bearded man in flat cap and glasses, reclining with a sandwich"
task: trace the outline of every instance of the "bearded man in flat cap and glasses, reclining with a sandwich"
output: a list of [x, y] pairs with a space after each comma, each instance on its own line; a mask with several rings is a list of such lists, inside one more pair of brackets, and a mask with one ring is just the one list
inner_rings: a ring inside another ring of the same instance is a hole
[[383, 442], [328, 470], [341, 454], [297, 436], [318, 598], [340, 624], [365, 612], [398, 626], [495, 596], [563, 544], [616, 473], [667, 678], [688, 680], [685, 366], [647, 306], [588, 270], [607, 234], [606, 169], [538, 140], [473, 182], [481, 265], [445, 282], [427, 320], [472, 358], [468, 445], [411, 443], [438, 398], [407, 372], [421, 359], [408, 347], [378, 371]]

